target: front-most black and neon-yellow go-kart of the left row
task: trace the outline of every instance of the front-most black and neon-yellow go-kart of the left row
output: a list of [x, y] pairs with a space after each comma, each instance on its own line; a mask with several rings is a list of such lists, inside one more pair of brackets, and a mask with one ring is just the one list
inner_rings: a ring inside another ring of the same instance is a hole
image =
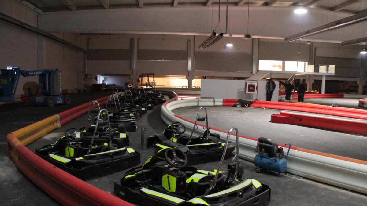
[[[101, 114], [106, 114], [108, 119], [106, 109], [99, 112], [98, 119]], [[35, 153], [82, 180], [138, 165], [140, 154], [132, 148], [123, 147], [123, 141], [119, 141], [120, 133], [109, 132], [110, 125], [103, 135], [97, 135], [98, 123], [97, 120], [92, 136], [83, 136], [83, 132], [71, 128], [54, 144], [38, 148]]]

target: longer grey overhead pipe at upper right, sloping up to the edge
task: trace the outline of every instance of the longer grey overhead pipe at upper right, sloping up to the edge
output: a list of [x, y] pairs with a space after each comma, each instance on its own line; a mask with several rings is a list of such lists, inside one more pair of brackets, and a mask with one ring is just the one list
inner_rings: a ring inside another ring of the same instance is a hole
[[362, 12], [360, 14], [356, 14], [353, 16], [349, 16], [347, 18], [344, 19], [339, 19], [337, 21], [334, 22], [330, 22], [326, 25], [322, 25], [322, 26], [318, 26], [315, 27], [313, 29], [298, 33], [298, 34], [293, 34], [291, 36], [287, 36], [284, 38], [284, 41], [286, 43], [291, 42], [291, 41], [295, 41], [295, 40], [300, 40], [302, 38], [308, 37], [308, 36], [312, 36], [315, 34], [319, 34], [319, 33], [323, 33], [323, 32], [327, 32], [327, 31], [331, 31], [331, 30], [335, 30], [335, 29], [341, 29], [344, 28], [346, 26], [351, 26], [354, 25], [356, 23], [361, 23], [367, 21], [367, 11]]

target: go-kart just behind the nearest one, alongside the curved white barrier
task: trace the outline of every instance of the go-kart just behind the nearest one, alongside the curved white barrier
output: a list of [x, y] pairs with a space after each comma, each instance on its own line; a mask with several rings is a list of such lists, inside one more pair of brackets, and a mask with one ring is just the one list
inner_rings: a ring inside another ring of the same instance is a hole
[[[206, 117], [199, 117], [201, 109], [205, 109]], [[197, 128], [197, 121], [204, 121], [205, 119], [206, 126], [203, 126], [206, 130], [203, 136], [193, 136], [193, 132]], [[197, 111], [196, 121], [191, 135], [186, 136], [184, 135], [185, 132], [185, 125], [180, 122], [174, 122], [168, 125], [162, 134], [148, 137], [148, 145], [155, 145], [156, 151], [163, 148], [179, 148], [188, 156], [190, 164], [218, 161], [222, 157], [225, 144], [220, 141], [219, 134], [210, 133], [206, 107], [200, 107]], [[228, 143], [225, 158], [230, 157], [234, 150], [235, 144]]]

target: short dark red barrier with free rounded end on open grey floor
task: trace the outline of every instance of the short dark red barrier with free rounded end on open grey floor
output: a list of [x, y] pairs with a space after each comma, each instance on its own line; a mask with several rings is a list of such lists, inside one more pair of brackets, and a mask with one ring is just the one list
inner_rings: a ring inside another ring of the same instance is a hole
[[358, 135], [367, 135], [367, 122], [349, 119], [322, 117], [281, 111], [280, 114], [272, 114], [270, 122], [309, 126], [320, 129], [355, 133]]

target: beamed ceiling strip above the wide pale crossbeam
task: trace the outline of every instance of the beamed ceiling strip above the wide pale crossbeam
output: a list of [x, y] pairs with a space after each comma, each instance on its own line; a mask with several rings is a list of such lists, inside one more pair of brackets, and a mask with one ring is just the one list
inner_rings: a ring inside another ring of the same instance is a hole
[[[225, 6], [226, 0], [21, 0], [43, 12], [105, 10], [113, 8]], [[228, 0], [230, 7], [305, 7], [358, 14], [367, 10], [366, 0]]]

